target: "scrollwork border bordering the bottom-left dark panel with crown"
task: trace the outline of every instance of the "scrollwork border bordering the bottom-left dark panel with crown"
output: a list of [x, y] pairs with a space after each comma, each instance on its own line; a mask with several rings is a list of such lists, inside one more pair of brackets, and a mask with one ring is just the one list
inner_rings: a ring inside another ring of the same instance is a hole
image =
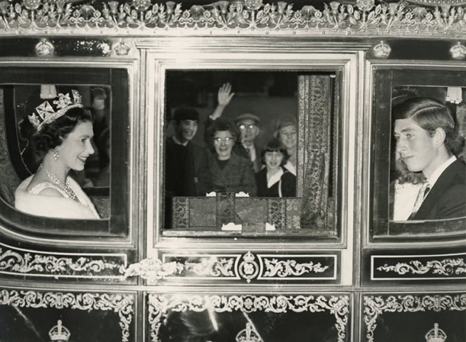
[[78, 309], [114, 311], [120, 317], [122, 342], [129, 341], [129, 326], [134, 312], [134, 296], [129, 294], [63, 293], [38, 291], [0, 291], [0, 305], [17, 308]]

